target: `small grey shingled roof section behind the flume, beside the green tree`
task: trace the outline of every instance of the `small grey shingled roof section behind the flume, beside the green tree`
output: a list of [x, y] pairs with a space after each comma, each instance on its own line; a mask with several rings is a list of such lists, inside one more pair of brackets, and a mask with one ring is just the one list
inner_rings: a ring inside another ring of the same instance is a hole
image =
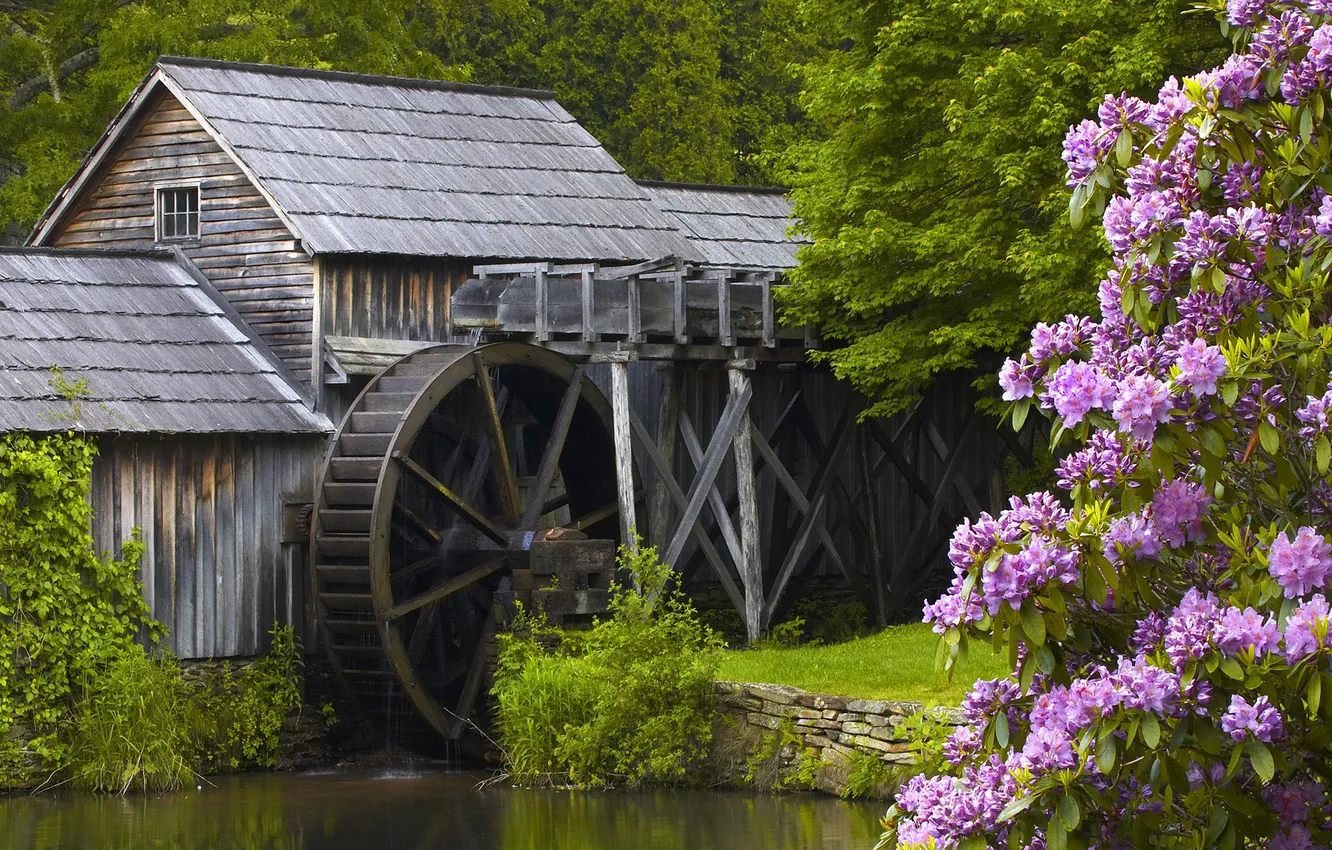
[[783, 189], [689, 183], [639, 184], [702, 254], [703, 265], [783, 270], [802, 241], [787, 236], [791, 204]]

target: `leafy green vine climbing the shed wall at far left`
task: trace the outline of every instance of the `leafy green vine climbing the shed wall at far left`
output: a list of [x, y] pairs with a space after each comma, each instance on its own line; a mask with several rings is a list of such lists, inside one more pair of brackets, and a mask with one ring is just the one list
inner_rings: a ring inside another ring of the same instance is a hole
[[0, 778], [60, 763], [76, 686], [140, 633], [160, 637], [137, 577], [143, 544], [125, 541], [119, 558], [93, 548], [96, 454], [73, 432], [0, 436]]

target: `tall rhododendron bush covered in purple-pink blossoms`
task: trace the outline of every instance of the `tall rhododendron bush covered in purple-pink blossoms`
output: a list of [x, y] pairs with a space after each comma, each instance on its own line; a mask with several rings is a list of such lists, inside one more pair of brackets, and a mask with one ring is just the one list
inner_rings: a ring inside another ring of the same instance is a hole
[[884, 843], [1332, 846], [1332, 0], [1215, 8], [1229, 60], [1068, 133], [1114, 269], [1000, 373], [1059, 490], [963, 524], [926, 608], [1014, 674]]

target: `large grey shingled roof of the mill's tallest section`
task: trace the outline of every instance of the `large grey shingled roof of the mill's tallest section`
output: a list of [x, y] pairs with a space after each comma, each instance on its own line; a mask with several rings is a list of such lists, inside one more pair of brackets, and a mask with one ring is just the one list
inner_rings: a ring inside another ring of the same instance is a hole
[[[647, 260], [691, 248], [550, 92], [163, 57], [165, 87], [312, 253]], [[113, 125], [91, 155], [116, 144]], [[69, 192], [68, 199], [77, 192]], [[35, 232], [63, 214], [57, 201]]]

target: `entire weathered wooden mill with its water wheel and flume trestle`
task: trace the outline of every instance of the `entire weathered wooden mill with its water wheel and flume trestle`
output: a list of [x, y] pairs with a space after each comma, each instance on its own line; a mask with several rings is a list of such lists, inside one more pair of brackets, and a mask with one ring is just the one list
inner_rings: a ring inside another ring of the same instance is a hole
[[[69, 304], [32, 313], [45, 348], [0, 345], [0, 380], [61, 366], [141, 426], [91, 428], [120, 434], [97, 540], [152, 526], [178, 654], [296, 622], [362, 705], [456, 737], [497, 600], [605, 601], [587, 553], [609, 549], [543, 529], [642, 533], [755, 637], [814, 573], [886, 621], [998, 500], [987, 470], [1022, 445], [964, 392], [862, 424], [807, 364], [817, 333], [774, 306], [787, 214], [781, 192], [635, 183], [547, 92], [163, 59], [7, 254]], [[217, 334], [248, 365], [149, 352]], [[15, 400], [45, 398], [24, 380]], [[190, 514], [208, 498], [234, 506]]]

